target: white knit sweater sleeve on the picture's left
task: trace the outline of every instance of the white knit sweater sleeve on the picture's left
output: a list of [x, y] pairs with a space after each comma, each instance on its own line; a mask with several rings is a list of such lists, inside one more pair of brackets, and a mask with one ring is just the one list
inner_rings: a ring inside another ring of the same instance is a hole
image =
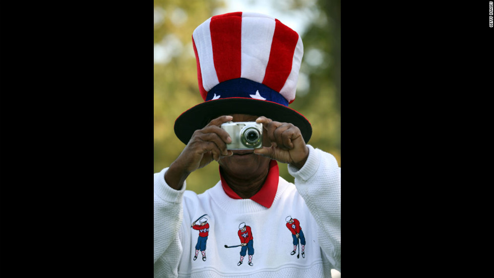
[[[179, 239], [182, 224], [182, 196], [186, 183], [180, 190], [165, 182], [168, 168], [154, 174], [154, 271], [155, 277], [173, 274], [177, 276], [182, 253]], [[156, 273], [156, 271], [160, 273]]]

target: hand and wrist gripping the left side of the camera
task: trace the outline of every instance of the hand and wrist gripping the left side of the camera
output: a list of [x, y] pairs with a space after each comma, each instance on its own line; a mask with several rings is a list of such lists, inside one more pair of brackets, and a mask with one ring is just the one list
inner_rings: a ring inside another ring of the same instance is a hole
[[194, 132], [187, 146], [165, 173], [165, 181], [171, 188], [179, 190], [190, 173], [213, 160], [218, 161], [233, 155], [232, 151], [226, 150], [226, 144], [231, 143], [231, 138], [228, 132], [220, 127], [232, 119], [232, 116], [218, 117]]

